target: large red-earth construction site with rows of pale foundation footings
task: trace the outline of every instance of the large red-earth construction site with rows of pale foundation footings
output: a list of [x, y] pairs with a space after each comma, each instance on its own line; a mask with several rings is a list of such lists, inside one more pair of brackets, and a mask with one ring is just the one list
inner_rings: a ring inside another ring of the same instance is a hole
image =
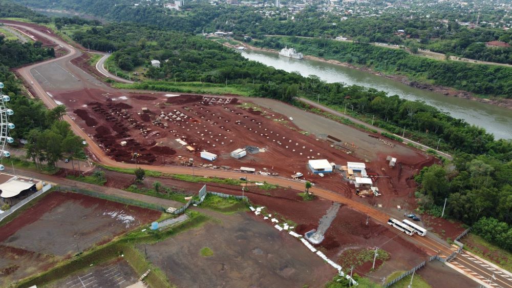
[[[355, 188], [342, 179], [339, 171], [321, 178], [310, 172], [308, 160], [327, 159], [336, 167], [345, 166], [347, 161], [364, 161], [381, 197], [378, 201], [373, 197], [361, 201], [390, 207], [407, 206], [410, 199], [406, 196], [410, 197], [415, 188], [412, 176], [435, 161], [398, 143], [390, 147], [388, 141], [352, 128], [346, 130], [362, 134], [356, 136], [364, 137], [364, 142], [355, 141], [350, 133], [342, 138], [337, 131], [332, 133], [337, 137], [309, 134], [290, 117], [253, 104], [250, 99], [110, 91], [88, 89], [83, 96], [52, 91], [51, 95], [66, 104], [82, 130], [119, 162], [165, 166], [189, 165], [193, 159], [196, 167], [232, 171], [247, 167], [286, 178], [301, 172], [303, 179], [352, 198], [356, 196]], [[341, 125], [331, 126], [334, 130]], [[363, 147], [358, 147], [359, 143]], [[371, 151], [365, 145], [371, 145]], [[232, 158], [230, 152], [237, 149], [245, 149], [247, 155]], [[200, 157], [201, 151], [218, 158], [205, 160]], [[386, 161], [391, 153], [398, 158], [393, 169]]]

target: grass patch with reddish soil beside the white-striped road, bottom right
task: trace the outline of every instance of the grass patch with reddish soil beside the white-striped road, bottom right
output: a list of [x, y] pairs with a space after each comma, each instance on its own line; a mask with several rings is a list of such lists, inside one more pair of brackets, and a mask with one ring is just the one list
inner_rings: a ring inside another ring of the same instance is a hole
[[[507, 271], [512, 271], [512, 253], [487, 242], [474, 233], [467, 234], [461, 242], [464, 243], [464, 250], [493, 262]], [[487, 251], [484, 252], [484, 250]]]

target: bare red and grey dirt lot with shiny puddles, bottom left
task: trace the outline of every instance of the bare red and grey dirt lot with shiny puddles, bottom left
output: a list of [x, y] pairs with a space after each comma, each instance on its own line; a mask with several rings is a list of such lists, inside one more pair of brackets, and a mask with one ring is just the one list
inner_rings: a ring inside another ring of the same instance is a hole
[[50, 192], [2, 227], [0, 286], [48, 270], [160, 215], [77, 193]]

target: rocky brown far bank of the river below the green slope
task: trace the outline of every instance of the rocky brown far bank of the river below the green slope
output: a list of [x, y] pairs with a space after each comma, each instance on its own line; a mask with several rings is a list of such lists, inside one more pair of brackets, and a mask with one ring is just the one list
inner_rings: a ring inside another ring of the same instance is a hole
[[[255, 47], [255, 46], [249, 45], [247, 43], [240, 43], [240, 44], [243, 45], [246, 48], [250, 48], [250, 49], [253, 49], [253, 50], [260, 50], [260, 51], [266, 51], [266, 52], [271, 52], [271, 53], [279, 53], [279, 51], [273, 50], [273, 49]], [[230, 45], [228, 43], [224, 43], [224, 45], [227, 46], [227, 47], [236, 48], [236, 46]], [[323, 62], [323, 63], [334, 64], [334, 65], [338, 65], [338, 66], [344, 66], [344, 67], [356, 69], [356, 70], [359, 70], [359, 71], [368, 72], [368, 73], [371, 73], [371, 74], [374, 74], [374, 75], [377, 75], [377, 76], [381, 76], [381, 77], [385, 77], [385, 78], [391, 79], [393, 81], [397, 81], [399, 83], [408, 85], [410, 87], [414, 87], [414, 88], [418, 88], [418, 89], [422, 89], [422, 90], [428, 90], [428, 91], [436, 92], [436, 93], [445, 95], [446, 97], [450, 97], [450, 96], [458, 97], [458, 98], [463, 98], [463, 99], [469, 99], [469, 100], [473, 100], [473, 101], [482, 102], [482, 103], [485, 103], [485, 104], [490, 104], [490, 105], [495, 105], [495, 106], [499, 106], [499, 107], [504, 107], [504, 108], [507, 108], [507, 109], [512, 109], [512, 99], [498, 98], [498, 97], [482, 98], [482, 97], [479, 97], [478, 95], [476, 95], [476, 94], [474, 94], [472, 92], [468, 92], [468, 91], [464, 91], [464, 90], [458, 90], [458, 89], [455, 89], [455, 88], [445, 87], [445, 86], [440, 86], [440, 85], [432, 85], [432, 84], [429, 84], [429, 83], [422, 83], [422, 82], [419, 82], [419, 81], [411, 80], [409, 77], [404, 76], [404, 75], [385, 74], [385, 73], [382, 73], [382, 72], [379, 72], [379, 71], [375, 71], [375, 70], [373, 70], [373, 69], [371, 69], [369, 67], [365, 67], [365, 66], [355, 66], [355, 65], [352, 65], [352, 64], [349, 64], [349, 63], [344, 63], [344, 62], [333, 60], [333, 59], [326, 59], [326, 58], [316, 57], [316, 56], [312, 56], [312, 55], [305, 55], [304, 58], [310, 59], [310, 60], [315, 60], [315, 61], [320, 61], [320, 62]]]

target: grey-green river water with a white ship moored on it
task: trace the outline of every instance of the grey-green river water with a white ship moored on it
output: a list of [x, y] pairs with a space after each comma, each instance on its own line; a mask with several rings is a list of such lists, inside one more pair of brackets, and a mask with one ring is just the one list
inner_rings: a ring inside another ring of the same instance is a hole
[[470, 124], [485, 128], [487, 132], [493, 133], [496, 139], [512, 138], [512, 111], [506, 108], [463, 98], [447, 97], [368, 72], [322, 61], [297, 60], [280, 56], [278, 53], [251, 49], [244, 50], [242, 56], [287, 72], [296, 71], [303, 76], [316, 75], [327, 83], [355, 84], [386, 91], [388, 95], [396, 94], [408, 100], [423, 100], [426, 104], [450, 113], [452, 117], [461, 118]]

